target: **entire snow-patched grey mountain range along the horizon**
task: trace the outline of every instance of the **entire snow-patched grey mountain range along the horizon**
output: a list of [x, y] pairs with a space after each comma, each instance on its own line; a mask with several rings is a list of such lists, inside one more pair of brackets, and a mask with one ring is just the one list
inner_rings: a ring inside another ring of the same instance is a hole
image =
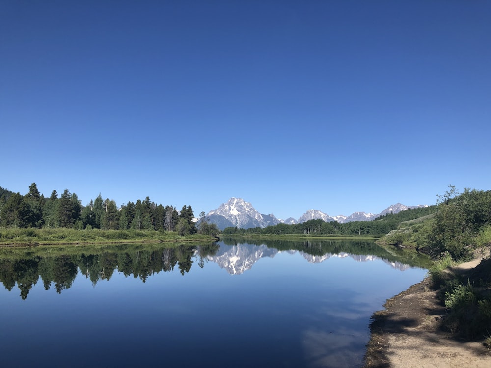
[[242, 198], [230, 198], [227, 202], [222, 203], [216, 210], [211, 210], [206, 215], [206, 219], [218, 226], [220, 230], [226, 227], [238, 227], [243, 229], [248, 228], [265, 228], [270, 225], [284, 224], [300, 224], [308, 220], [321, 219], [325, 222], [337, 221], [339, 223], [351, 221], [371, 221], [379, 216], [384, 216], [387, 213], [398, 213], [400, 211], [428, 207], [427, 205], [405, 206], [401, 203], [396, 203], [387, 207], [380, 213], [354, 212], [349, 216], [338, 215], [329, 216], [320, 210], [307, 210], [299, 219], [289, 217], [286, 220], [277, 219], [273, 213], [262, 214], [254, 207], [243, 200]]

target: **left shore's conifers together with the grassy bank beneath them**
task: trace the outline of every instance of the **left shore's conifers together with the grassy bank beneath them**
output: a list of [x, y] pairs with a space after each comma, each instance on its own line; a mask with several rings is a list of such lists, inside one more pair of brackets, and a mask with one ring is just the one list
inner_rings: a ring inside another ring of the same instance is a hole
[[204, 215], [196, 225], [191, 206], [178, 212], [149, 197], [118, 208], [99, 194], [83, 206], [68, 189], [44, 197], [36, 183], [26, 195], [0, 187], [0, 244], [213, 241], [219, 230]]

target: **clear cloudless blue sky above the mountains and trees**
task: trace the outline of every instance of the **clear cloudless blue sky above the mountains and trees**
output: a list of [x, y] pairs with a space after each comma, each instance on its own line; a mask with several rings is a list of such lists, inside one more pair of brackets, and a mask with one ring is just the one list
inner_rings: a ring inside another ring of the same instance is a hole
[[0, 0], [0, 186], [299, 218], [489, 190], [491, 1]]

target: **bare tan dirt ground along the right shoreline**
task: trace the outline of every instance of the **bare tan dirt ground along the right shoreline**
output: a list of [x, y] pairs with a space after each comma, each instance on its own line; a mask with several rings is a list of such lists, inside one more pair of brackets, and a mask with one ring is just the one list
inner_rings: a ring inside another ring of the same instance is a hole
[[[455, 272], [468, 272], [480, 259], [463, 263]], [[370, 325], [365, 367], [491, 368], [491, 355], [482, 342], [459, 340], [440, 327], [446, 309], [430, 289], [427, 278], [387, 300]]]

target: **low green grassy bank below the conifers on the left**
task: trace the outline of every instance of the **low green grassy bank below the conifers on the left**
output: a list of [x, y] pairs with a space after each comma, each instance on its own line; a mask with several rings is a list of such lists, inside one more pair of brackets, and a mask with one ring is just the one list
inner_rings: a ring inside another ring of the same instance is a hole
[[0, 245], [40, 245], [40, 244], [102, 244], [135, 242], [197, 242], [214, 241], [208, 235], [193, 234], [180, 236], [176, 232], [155, 230], [75, 230], [57, 229], [0, 229]]

